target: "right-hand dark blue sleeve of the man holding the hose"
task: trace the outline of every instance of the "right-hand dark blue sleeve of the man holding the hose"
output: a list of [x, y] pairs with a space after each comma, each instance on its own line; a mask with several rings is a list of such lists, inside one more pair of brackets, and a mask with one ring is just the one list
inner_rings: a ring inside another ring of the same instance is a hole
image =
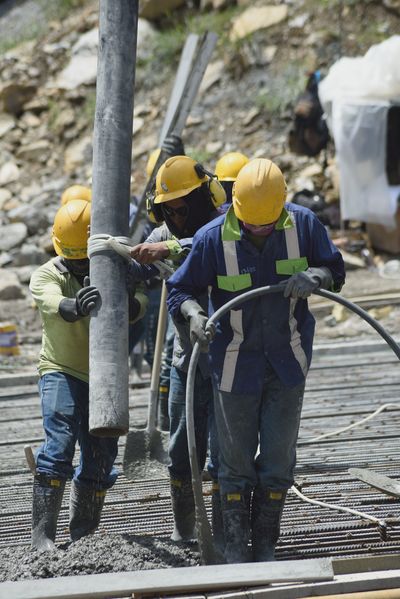
[[314, 213], [309, 211], [309, 235], [311, 255], [309, 266], [326, 266], [332, 273], [333, 284], [331, 291], [339, 292], [345, 282], [345, 267], [341, 253], [332, 243], [327, 230]]

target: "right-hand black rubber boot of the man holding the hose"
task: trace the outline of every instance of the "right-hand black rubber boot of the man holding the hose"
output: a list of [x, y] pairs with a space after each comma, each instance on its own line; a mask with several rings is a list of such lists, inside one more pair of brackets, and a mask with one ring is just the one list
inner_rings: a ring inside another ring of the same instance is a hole
[[286, 490], [275, 491], [256, 487], [251, 506], [252, 546], [255, 562], [275, 559]]

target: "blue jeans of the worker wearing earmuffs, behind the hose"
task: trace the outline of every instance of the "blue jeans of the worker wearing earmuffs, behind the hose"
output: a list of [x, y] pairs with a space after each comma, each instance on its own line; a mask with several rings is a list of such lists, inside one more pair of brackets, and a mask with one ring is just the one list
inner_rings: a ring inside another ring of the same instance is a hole
[[[170, 422], [168, 466], [171, 478], [190, 480], [191, 469], [186, 430], [186, 380], [187, 373], [171, 368], [170, 388], [168, 397], [168, 413]], [[213, 404], [211, 378], [204, 379], [196, 370], [194, 386], [194, 426], [196, 435], [197, 460], [200, 471], [203, 470], [208, 444], [208, 417]]]

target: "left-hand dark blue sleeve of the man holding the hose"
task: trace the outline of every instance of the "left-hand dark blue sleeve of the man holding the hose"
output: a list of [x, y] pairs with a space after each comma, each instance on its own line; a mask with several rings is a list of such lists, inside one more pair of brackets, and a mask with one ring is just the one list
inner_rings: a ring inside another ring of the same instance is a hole
[[178, 318], [181, 304], [187, 299], [199, 301], [215, 280], [213, 252], [207, 251], [208, 239], [200, 232], [193, 237], [192, 249], [183, 264], [167, 281], [167, 306], [172, 317]]

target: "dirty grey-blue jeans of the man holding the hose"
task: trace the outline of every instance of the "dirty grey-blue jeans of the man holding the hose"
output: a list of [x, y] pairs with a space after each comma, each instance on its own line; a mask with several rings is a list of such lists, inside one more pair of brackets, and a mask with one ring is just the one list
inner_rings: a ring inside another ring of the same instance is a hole
[[269, 368], [259, 395], [218, 391], [222, 493], [251, 492], [256, 485], [276, 490], [292, 486], [304, 387], [305, 382], [285, 387]]

